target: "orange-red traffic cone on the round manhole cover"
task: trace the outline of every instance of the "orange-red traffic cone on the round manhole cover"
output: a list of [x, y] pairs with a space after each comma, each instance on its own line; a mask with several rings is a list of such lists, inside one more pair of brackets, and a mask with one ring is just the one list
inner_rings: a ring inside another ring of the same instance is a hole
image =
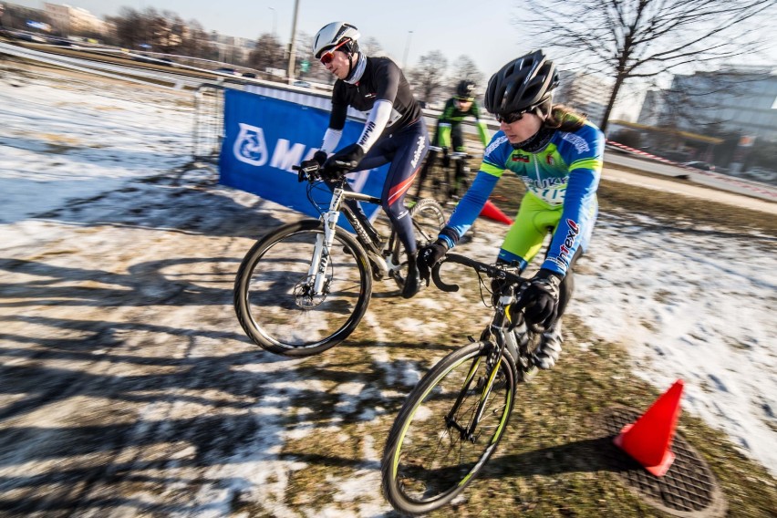
[[657, 477], [663, 477], [675, 460], [669, 446], [678, 424], [682, 388], [683, 381], [678, 379], [641, 418], [623, 427], [613, 440]]

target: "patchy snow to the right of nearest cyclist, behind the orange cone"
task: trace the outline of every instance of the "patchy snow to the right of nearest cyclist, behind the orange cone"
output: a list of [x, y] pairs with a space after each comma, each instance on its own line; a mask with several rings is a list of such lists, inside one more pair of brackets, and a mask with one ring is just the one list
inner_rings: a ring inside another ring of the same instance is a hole
[[[607, 215], [575, 278], [575, 313], [624, 343], [658, 388], [685, 381], [683, 409], [777, 473], [775, 239]], [[771, 426], [770, 426], [771, 425]]]

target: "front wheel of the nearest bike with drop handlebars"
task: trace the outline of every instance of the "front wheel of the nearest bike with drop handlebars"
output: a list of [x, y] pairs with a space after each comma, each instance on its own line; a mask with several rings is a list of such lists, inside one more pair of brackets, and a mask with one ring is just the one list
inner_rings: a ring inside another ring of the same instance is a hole
[[[491, 342], [461, 347], [421, 378], [388, 434], [383, 491], [400, 513], [430, 513], [481, 471], [513, 409], [513, 360]], [[481, 405], [482, 402], [482, 405]]]

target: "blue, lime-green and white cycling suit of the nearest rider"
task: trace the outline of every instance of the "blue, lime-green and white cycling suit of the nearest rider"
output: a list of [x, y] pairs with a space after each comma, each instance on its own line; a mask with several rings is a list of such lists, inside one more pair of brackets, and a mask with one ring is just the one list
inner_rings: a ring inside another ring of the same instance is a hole
[[[526, 186], [521, 209], [505, 236], [499, 258], [517, 261], [523, 269], [542, 247], [544, 235], [553, 239], [543, 268], [566, 275], [579, 247], [585, 251], [596, 223], [596, 188], [602, 171], [605, 136], [590, 122], [574, 131], [557, 129], [540, 150], [516, 150], [498, 131], [483, 153], [470, 189], [451, 214], [446, 230], [464, 235], [482, 211], [505, 171]], [[455, 243], [440, 234], [450, 247]]]

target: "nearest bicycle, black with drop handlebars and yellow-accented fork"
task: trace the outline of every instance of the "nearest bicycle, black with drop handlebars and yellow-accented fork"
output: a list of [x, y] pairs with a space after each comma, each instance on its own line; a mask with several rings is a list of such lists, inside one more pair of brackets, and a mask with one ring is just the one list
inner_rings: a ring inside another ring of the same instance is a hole
[[[510, 420], [516, 385], [534, 376], [532, 353], [543, 329], [516, 333], [507, 308], [528, 279], [509, 265], [485, 264], [448, 254], [431, 272], [442, 291], [457, 285], [440, 280], [440, 265], [470, 266], [501, 285], [493, 294], [493, 316], [480, 340], [443, 357], [420, 379], [388, 433], [381, 461], [383, 492], [400, 513], [430, 513], [451, 502], [492, 456]], [[471, 450], [471, 451], [470, 451]]]

